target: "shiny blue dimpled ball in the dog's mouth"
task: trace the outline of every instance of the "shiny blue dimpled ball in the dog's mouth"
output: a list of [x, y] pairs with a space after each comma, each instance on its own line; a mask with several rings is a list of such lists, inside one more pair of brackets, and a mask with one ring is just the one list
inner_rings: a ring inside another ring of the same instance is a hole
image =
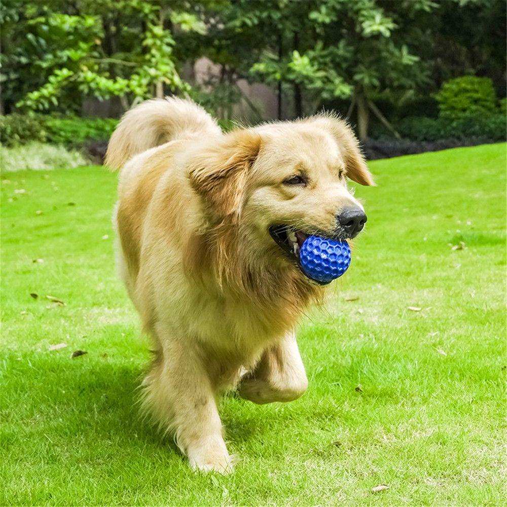
[[320, 283], [329, 283], [347, 271], [350, 247], [346, 241], [308, 236], [301, 246], [299, 259], [303, 273]]

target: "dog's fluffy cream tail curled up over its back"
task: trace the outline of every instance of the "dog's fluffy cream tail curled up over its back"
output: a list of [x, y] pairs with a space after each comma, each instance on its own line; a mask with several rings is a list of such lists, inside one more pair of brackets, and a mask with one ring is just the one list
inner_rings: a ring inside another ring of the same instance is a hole
[[176, 97], [147, 100], [123, 115], [107, 146], [105, 164], [121, 169], [138, 153], [195, 134], [221, 134], [200, 105]]

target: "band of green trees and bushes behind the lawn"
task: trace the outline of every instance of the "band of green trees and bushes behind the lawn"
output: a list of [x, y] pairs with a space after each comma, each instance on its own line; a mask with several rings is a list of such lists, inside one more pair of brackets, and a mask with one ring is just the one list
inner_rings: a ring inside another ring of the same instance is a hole
[[[5, 0], [2, 112], [59, 116], [38, 133], [3, 119], [3, 138], [104, 141], [113, 122], [76, 121], [90, 98], [119, 117], [149, 97], [190, 96], [228, 121], [241, 103], [258, 122], [247, 80], [273, 89], [279, 119], [338, 111], [373, 158], [371, 139], [503, 140], [505, 18], [489, 0]], [[202, 57], [216, 71], [199, 82]]]

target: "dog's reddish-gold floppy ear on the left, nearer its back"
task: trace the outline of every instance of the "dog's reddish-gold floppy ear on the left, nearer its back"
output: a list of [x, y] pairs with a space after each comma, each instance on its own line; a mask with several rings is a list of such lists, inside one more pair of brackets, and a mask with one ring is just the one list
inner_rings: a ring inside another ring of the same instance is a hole
[[258, 133], [237, 130], [192, 157], [188, 169], [192, 188], [221, 218], [239, 214], [248, 172], [260, 147]]

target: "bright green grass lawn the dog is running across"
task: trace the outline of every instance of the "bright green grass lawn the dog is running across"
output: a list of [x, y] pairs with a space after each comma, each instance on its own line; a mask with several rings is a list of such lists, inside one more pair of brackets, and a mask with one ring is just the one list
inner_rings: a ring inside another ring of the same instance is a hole
[[505, 165], [504, 144], [371, 163], [350, 271], [298, 328], [309, 389], [223, 400], [227, 477], [137, 416], [149, 352], [113, 265], [116, 175], [4, 174], [0, 504], [502, 504]]

